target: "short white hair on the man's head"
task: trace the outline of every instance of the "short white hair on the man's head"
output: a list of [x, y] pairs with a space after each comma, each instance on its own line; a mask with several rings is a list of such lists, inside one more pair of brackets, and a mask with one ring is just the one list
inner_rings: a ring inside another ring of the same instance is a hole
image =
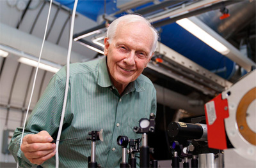
[[150, 30], [152, 31], [153, 34], [153, 45], [150, 51], [150, 55], [155, 52], [156, 50], [156, 45], [157, 45], [157, 39], [158, 39], [158, 32], [156, 29], [148, 22], [148, 20], [140, 15], [134, 15], [134, 14], [129, 14], [129, 15], [124, 15], [120, 18], [116, 18], [108, 27], [107, 31], [107, 37], [108, 37], [108, 42], [111, 43], [112, 39], [115, 37], [116, 33], [116, 28], [120, 22], [125, 22], [125, 23], [132, 23], [132, 22], [143, 22], [148, 25]]

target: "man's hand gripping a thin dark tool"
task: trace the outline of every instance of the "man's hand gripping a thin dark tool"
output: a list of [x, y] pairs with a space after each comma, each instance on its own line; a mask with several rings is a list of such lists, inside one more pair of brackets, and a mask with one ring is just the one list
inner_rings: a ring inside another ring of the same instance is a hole
[[52, 137], [45, 130], [38, 134], [29, 134], [24, 136], [20, 150], [32, 164], [40, 165], [56, 153], [56, 144], [51, 143], [52, 140]]

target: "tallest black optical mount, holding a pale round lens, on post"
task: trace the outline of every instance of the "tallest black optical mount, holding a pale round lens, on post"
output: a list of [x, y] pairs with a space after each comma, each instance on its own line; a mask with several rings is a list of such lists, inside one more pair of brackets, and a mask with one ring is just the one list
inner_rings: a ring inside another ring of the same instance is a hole
[[[142, 145], [140, 147], [140, 167], [149, 167], [150, 160], [149, 160], [149, 146], [148, 146], [148, 133], [154, 132], [155, 130], [155, 118], [156, 116], [154, 113], [150, 113], [150, 119], [141, 118], [140, 119], [140, 128], [134, 127], [133, 130], [137, 134], [142, 134], [141, 141]], [[152, 164], [156, 165], [156, 164]]]

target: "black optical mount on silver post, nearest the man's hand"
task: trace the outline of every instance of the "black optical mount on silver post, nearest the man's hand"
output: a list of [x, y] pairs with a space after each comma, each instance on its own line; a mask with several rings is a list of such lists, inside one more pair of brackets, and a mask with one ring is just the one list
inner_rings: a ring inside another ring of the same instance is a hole
[[96, 167], [100, 167], [100, 165], [97, 164], [97, 162], [95, 161], [95, 150], [96, 150], [96, 146], [95, 146], [95, 141], [99, 141], [100, 140], [100, 132], [95, 130], [92, 132], [88, 133], [90, 137], [87, 137], [87, 140], [92, 140], [92, 148], [91, 148], [91, 156], [88, 157], [88, 167], [92, 167], [92, 168], [96, 168]]

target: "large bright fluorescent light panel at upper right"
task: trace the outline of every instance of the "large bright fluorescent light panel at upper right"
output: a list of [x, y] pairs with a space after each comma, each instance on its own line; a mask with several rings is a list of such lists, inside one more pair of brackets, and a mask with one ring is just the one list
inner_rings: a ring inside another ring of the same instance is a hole
[[198, 27], [198, 25], [191, 22], [191, 20], [189, 20], [188, 18], [182, 18], [180, 20], [177, 20], [176, 23], [189, 31], [194, 36], [196, 36], [196, 38], [204, 41], [204, 43], [211, 46], [211, 48], [213, 48], [217, 52], [220, 52], [223, 55], [226, 55], [230, 52], [230, 50], [228, 50], [225, 45], [221, 44], [220, 41], [213, 38], [210, 34]]

